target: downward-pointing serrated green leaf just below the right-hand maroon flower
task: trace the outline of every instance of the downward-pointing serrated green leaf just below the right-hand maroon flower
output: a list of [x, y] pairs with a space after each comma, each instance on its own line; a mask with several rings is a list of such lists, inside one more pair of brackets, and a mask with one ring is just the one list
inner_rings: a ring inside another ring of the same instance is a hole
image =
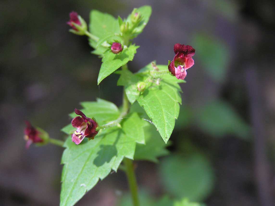
[[[157, 65], [160, 71], [167, 70], [166, 65]], [[142, 72], [150, 69], [147, 65]], [[137, 73], [138, 74], [138, 73]], [[171, 75], [163, 75], [160, 85], [154, 85], [146, 89], [137, 101], [144, 108], [147, 115], [152, 119], [154, 125], [160, 132], [165, 143], [169, 140], [178, 118], [182, 99], [182, 91], [178, 83], [184, 82]]]

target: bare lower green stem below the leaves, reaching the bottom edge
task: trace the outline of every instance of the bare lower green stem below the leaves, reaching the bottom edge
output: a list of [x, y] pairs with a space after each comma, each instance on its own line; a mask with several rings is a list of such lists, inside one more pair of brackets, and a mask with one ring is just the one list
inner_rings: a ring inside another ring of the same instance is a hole
[[132, 195], [133, 205], [139, 206], [138, 184], [137, 184], [136, 175], [134, 172], [133, 160], [124, 158], [123, 163], [124, 163], [125, 169], [126, 169], [126, 175], [127, 175], [131, 195]]

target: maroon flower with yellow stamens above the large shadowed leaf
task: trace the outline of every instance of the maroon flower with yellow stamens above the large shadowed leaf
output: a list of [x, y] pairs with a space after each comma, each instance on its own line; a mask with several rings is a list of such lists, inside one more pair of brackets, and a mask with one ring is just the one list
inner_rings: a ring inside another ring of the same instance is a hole
[[77, 128], [76, 131], [72, 134], [72, 141], [78, 145], [82, 142], [84, 137], [92, 137], [92, 139], [94, 139], [94, 136], [98, 133], [95, 130], [98, 126], [97, 122], [91, 118], [86, 117], [83, 112], [78, 109], [75, 109], [75, 113], [81, 117], [77, 116], [72, 120], [73, 127]]

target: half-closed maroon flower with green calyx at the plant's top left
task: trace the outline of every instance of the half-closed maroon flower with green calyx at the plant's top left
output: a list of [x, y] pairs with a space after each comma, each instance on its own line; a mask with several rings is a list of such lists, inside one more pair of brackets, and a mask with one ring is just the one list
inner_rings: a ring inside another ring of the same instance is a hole
[[76, 12], [70, 13], [70, 21], [67, 24], [72, 27], [69, 31], [73, 34], [84, 35], [87, 31], [87, 23]]

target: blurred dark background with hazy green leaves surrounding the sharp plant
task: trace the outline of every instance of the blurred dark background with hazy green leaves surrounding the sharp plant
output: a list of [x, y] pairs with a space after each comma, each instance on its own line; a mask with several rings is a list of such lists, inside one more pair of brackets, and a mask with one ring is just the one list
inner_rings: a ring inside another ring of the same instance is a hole
[[[0, 205], [58, 205], [62, 148], [25, 149], [24, 120], [64, 139], [60, 129], [81, 101], [121, 104], [112, 74], [97, 86], [101, 60], [86, 37], [68, 32], [69, 12], [87, 22], [97, 9], [127, 17], [152, 6], [129, 63], [167, 64], [175, 43], [196, 49], [182, 85], [171, 156], [137, 162], [142, 201], [164, 194], [209, 206], [271, 206], [275, 195], [275, 3], [272, 0], [0, 2]], [[76, 205], [128, 205], [123, 172], [112, 173]], [[146, 205], [144, 203], [144, 205]]]

